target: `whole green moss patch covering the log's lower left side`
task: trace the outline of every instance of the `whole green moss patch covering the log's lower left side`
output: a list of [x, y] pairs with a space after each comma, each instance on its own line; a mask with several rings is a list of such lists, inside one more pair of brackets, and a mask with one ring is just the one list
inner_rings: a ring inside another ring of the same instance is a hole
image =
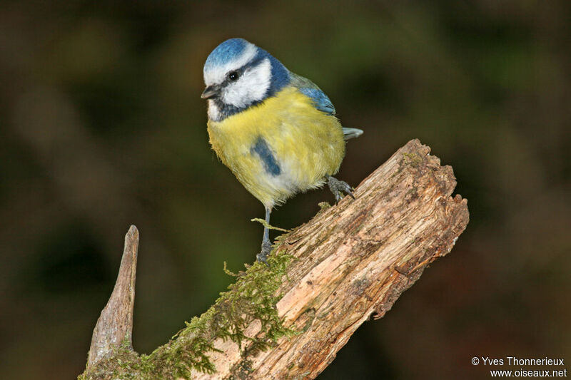
[[[248, 352], [242, 352], [246, 364], [247, 354], [266, 350], [279, 338], [297, 334], [283, 326], [276, 309], [276, 302], [281, 298], [276, 291], [292, 259], [274, 250], [268, 257], [269, 268], [256, 262], [238, 274], [228, 271], [225, 264], [224, 272], [236, 277], [236, 282], [220, 294], [206, 313], [186, 322], [186, 327], [171, 342], [150, 355], [140, 356], [130, 346], [122, 346], [112, 359], [99, 363], [96, 369], [90, 369], [79, 379], [191, 379], [193, 371], [213, 374], [216, 368], [209, 354], [217, 351], [213, 342], [218, 338], [229, 339], [238, 346], [249, 342]], [[247, 337], [244, 330], [255, 320], [261, 322], [261, 332], [256, 337]], [[247, 368], [242, 365], [240, 371]]]

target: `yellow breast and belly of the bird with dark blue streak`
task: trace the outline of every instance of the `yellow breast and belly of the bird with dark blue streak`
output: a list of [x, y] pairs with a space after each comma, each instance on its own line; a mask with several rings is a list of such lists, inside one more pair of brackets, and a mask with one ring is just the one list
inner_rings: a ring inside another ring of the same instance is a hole
[[213, 150], [266, 207], [324, 183], [345, 155], [337, 118], [286, 87], [258, 106], [208, 121]]

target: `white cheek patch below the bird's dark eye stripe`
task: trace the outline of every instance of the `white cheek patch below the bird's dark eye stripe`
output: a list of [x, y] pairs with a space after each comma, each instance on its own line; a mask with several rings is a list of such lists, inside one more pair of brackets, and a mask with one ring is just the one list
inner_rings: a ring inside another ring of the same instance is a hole
[[238, 108], [261, 101], [270, 88], [272, 66], [268, 58], [258, 66], [243, 73], [236, 83], [227, 86], [222, 94], [222, 101]]

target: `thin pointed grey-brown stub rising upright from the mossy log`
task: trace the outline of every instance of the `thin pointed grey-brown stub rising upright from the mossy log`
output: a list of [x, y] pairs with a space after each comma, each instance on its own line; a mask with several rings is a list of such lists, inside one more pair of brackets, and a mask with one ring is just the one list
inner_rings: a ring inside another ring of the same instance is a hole
[[137, 251], [138, 230], [131, 225], [125, 235], [123, 257], [115, 287], [101, 316], [97, 319], [91, 337], [91, 347], [87, 356], [88, 368], [112, 356], [121, 346], [131, 348]]

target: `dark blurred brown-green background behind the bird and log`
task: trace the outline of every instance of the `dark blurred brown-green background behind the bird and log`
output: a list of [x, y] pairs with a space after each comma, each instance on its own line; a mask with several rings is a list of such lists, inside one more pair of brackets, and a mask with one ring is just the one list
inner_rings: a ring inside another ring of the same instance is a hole
[[[202, 65], [226, 38], [328, 93], [360, 183], [412, 138], [470, 224], [319, 379], [487, 379], [473, 356], [571, 361], [570, 1], [4, 1], [0, 374], [73, 379], [141, 232], [133, 344], [150, 352], [253, 262], [262, 205], [208, 145]], [[332, 197], [273, 213], [295, 227]], [[569, 363], [566, 363], [571, 369]]]

